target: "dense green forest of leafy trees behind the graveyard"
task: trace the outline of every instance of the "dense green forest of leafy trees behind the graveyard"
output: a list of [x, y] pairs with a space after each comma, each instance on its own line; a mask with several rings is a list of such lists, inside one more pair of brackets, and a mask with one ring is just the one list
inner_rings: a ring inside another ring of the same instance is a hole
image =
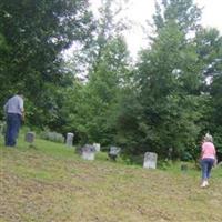
[[95, 17], [88, 0], [1, 0], [0, 105], [22, 91], [30, 128], [127, 157], [192, 159], [206, 132], [222, 154], [221, 33], [201, 26], [193, 0], [159, 0], [132, 62], [122, 3], [103, 0]]

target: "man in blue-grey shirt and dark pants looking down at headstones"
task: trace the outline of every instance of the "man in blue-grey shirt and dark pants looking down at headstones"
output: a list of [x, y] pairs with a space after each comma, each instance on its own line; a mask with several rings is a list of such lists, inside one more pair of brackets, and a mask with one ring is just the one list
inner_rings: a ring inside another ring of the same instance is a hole
[[6, 147], [16, 147], [19, 129], [24, 120], [23, 95], [18, 92], [3, 107], [7, 117]]

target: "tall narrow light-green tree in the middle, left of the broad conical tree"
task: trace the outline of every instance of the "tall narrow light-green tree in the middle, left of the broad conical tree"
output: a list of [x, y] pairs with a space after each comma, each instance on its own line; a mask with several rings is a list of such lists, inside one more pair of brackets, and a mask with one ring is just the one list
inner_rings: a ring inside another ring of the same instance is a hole
[[69, 117], [83, 143], [109, 144], [115, 135], [117, 104], [129, 73], [129, 52], [121, 34], [125, 24], [117, 19], [121, 11], [119, 3], [102, 1], [91, 41], [84, 47], [78, 46], [80, 52], [72, 58], [73, 67], [83, 68], [82, 75], [88, 78], [75, 104], [70, 107]]

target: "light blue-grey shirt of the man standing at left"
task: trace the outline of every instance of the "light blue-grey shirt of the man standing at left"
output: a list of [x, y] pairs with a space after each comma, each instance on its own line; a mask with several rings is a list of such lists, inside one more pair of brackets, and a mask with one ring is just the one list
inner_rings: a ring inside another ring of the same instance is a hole
[[23, 99], [16, 94], [10, 98], [3, 107], [6, 113], [16, 113], [22, 115], [23, 109]]

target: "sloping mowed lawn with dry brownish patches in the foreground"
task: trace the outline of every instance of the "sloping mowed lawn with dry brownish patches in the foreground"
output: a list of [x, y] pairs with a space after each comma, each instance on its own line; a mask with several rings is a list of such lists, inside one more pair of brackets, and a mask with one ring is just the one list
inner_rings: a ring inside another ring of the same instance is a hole
[[0, 143], [0, 221], [202, 222], [222, 221], [222, 169], [210, 188], [200, 172], [145, 170], [84, 161], [65, 145], [37, 140], [16, 149]]

